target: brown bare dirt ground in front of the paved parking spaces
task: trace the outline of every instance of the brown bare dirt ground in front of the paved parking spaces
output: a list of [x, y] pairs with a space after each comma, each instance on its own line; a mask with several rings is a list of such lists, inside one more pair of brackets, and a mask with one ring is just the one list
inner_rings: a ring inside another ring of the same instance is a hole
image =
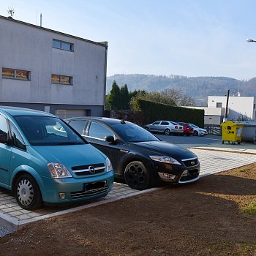
[[28, 225], [0, 255], [256, 255], [255, 202], [247, 165]]

